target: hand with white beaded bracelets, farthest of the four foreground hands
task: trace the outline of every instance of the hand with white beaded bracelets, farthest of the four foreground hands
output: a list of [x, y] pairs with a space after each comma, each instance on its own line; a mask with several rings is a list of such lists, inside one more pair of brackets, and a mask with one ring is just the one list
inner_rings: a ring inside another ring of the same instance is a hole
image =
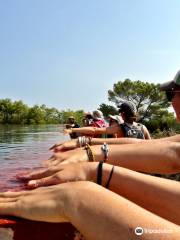
[[66, 141], [64, 143], [57, 143], [53, 145], [49, 150], [53, 150], [54, 152], [64, 152], [78, 147], [79, 146], [77, 139], [73, 139], [70, 141]]

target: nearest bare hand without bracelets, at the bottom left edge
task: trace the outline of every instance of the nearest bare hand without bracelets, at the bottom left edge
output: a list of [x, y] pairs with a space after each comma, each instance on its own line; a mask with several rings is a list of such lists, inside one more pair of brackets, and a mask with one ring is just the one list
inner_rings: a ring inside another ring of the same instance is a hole
[[70, 187], [68, 184], [70, 183], [32, 191], [0, 193], [0, 214], [36, 221], [68, 222], [65, 212], [66, 193]]

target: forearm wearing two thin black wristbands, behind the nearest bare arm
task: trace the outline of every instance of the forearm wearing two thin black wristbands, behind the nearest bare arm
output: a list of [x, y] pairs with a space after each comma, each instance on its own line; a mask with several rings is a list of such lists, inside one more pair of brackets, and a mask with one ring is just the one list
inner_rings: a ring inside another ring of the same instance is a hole
[[[112, 166], [103, 164], [102, 185], [108, 181]], [[95, 170], [97, 174], [97, 170]], [[179, 182], [157, 178], [122, 167], [115, 167], [109, 189], [137, 205], [180, 225]], [[173, 203], [173, 204], [171, 204]]]

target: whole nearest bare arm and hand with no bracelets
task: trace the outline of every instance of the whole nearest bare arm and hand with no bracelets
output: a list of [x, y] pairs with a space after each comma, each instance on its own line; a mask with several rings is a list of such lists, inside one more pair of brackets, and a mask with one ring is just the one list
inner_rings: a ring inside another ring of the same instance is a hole
[[[113, 207], [112, 207], [113, 206]], [[139, 239], [137, 226], [168, 229], [144, 240], [175, 240], [179, 226], [90, 182], [65, 183], [24, 192], [0, 194], [0, 214], [46, 222], [71, 222], [87, 240]]]

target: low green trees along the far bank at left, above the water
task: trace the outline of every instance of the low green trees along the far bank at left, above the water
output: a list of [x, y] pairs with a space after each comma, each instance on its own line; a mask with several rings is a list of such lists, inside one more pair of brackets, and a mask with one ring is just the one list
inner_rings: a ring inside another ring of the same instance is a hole
[[81, 122], [84, 112], [83, 110], [59, 111], [44, 104], [28, 107], [22, 101], [0, 99], [0, 124], [62, 124], [72, 115], [77, 122]]

